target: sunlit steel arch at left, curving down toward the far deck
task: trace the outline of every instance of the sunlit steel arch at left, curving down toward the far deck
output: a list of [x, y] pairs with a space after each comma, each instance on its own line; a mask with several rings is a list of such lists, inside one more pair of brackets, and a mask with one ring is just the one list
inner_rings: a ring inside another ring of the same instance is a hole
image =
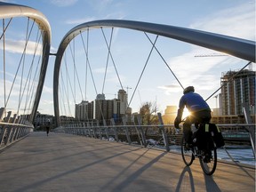
[[50, 46], [51, 46], [51, 27], [42, 12], [37, 11], [28, 6], [20, 5], [20, 4], [8, 4], [8, 3], [0, 3], [0, 18], [12, 18], [12, 17], [28, 17], [32, 20], [35, 20], [38, 24], [39, 28], [42, 31], [43, 36], [43, 55], [42, 55], [42, 64], [41, 64], [41, 73], [39, 76], [39, 82], [36, 90], [36, 97], [34, 100], [34, 105], [30, 115], [30, 122], [33, 122], [36, 111], [39, 105], [39, 101], [41, 98], [43, 86], [44, 86], [44, 78], [46, 74], [46, 69], [49, 60]]

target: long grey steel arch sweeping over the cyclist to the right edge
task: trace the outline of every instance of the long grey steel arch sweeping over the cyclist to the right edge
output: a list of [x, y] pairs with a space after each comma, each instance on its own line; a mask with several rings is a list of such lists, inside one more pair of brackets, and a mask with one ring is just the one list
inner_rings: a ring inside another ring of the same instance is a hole
[[196, 29], [180, 28], [134, 20], [94, 20], [90, 22], [85, 22], [68, 31], [66, 36], [63, 37], [57, 52], [53, 75], [53, 102], [57, 126], [60, 124], [58, 86], [60, 62], [63, 53], [65, 52], [65, 49], [68, 46], [69, 42], [78, 34], [80, 34], [80, 32], [83, 32], [87, 28], [101, 27], [130, 28], [134, 30], [140, 30], [151, 34], [166, 36], [169, 38], [187, 42], [188, 44], [196, 44], [205, 48], [216, 50], [218, 52], [226, 52], [237, 58], [255, 62], [255, 42], [241, 38], [223, 36], [220, 34], [214, 34]]

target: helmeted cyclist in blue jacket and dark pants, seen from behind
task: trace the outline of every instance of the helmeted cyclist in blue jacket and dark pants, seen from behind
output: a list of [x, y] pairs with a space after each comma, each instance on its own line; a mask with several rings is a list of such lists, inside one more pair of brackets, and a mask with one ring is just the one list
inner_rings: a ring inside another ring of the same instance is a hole
[[188, 86], [183, 91], [183, 96], [180, 98], [179, 109], [177, 116], [174, 120], [174, 127], [180, 129], [181, 117], [183, 109], [188, 108], [190, 115], [186, 118], [183, 124], [183, 133], [188, 146], [192, 144], [192, 131], [191, 124], [195, 124], [198, 128], [198, 124], [209, 123], [211, 116], [211, 108], [204, 101], [201, 95], [195, 92], [193, 86]]

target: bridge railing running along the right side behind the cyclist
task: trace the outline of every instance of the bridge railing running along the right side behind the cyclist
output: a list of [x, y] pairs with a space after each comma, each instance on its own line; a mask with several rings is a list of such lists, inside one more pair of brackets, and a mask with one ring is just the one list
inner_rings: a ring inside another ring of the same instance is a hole
[[[248, 131], [249, 127], [255, 124], [218, 124], [226, 145], [247, 145], [252, 146], [255, 155], [252, 135]], [[128, 144], [139, 144], [147, 147], [148, 144], [163, 146], [166, 151], [170, 150], [171, 145], [180, 145], [182, 129], [179, 133], [175, 132], [173, 124], [158, 125], [111, 125], [93, 126], [89, 124], [67, 124], [54, 130], [68, 134], [76, 134], [99, 140], [115, 140], [116, 142], [126, 142]], [[254, 132], [255, 134], [255, 132]]]

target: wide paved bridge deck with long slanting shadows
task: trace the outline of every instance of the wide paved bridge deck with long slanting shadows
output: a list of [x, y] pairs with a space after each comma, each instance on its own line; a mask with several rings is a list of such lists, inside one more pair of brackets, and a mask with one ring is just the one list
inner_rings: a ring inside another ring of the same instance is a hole
[[3, 191], [255, 191], [255, 168], [219, 162], [206, 176], [199, 161], [68, 134], [32, 132], [0, 153]]

